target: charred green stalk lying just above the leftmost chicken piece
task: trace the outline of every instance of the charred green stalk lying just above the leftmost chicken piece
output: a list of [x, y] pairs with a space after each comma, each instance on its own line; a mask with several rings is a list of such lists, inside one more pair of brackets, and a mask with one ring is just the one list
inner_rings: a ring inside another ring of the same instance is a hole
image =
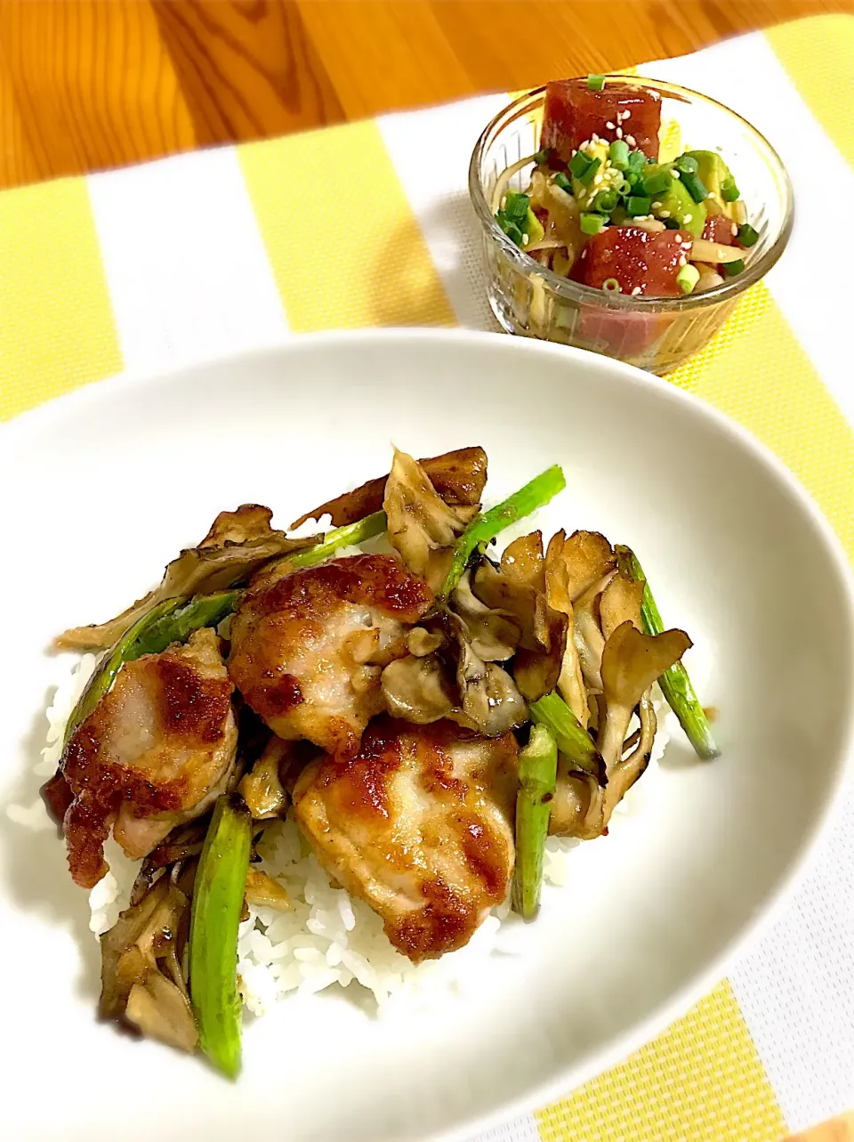
[[143, 654], [159, 654], [174, 642], [183, 642], [193, 630], [215, 627], [231, 614], [237, 601], [236, 590], [223, 590], [198, 598], [167, 598], [124, 632], [119, 642], [102, 659], [97, 670], [80, 695], [65, 727], [67, 743], [76, 727], [110, 690], [124, 662], [132, 662]]

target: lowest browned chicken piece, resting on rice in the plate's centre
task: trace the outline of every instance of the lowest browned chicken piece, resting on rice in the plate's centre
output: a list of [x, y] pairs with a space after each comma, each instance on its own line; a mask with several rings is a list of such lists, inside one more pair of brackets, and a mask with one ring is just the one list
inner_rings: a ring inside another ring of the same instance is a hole
[[461, 948], [507, 894], [516, 755], [511, 733], [381, 717], [355, 757], [313, 762], [297, 781], [317, 860], [416, 963]]

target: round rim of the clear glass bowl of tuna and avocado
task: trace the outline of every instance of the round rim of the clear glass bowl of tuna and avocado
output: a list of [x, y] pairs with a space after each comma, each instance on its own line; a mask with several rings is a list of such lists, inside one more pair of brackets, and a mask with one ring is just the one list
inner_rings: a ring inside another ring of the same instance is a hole
[[[583, 79], [583, 77], [575, 78]], [[783, 160], [780, 158], [771, 143], [768, 143], [762, 131], [757, 130], [757, 128], [740, 115], [738, 111], [733, 111], [733, 108], [727, 107], [726, 104], [719, 103], [717, 99], [712, 99], [711, 96], [703, 95], [701, 91], [694, 91], [690, 87], [682, 87], [678, 83], [670, 83], [664, 80], [646, 79], [642, 75], [607, 73], [604, 75], [604, 79], [605, 82], [615, 81], [625, 83], [629, 81], [631, 83], [637, 83], [639, 87], [668, 95], [682, 103], [688, 102], [686, 99], [687, 96], [691, 100], [699, 100], [719, 108], [727, 115], [736, 119], [742, 127], [747, 128], [748, 139], [754, 144], [754, 146], [757, 146], [758, 144], [760, 147], [764, 147], [767, 151], [772, 163], [776, 164], [776, 174], [780, 177], [783, 190], [783, 220], [780, 225], [776, 238], [771, 243], [768, 249], [765, 250], [765, 252], [762, 254], [755, 262], [749, 263], [744, 268], [744, 272], [738, 276], [730, 278], [722, 282], [720, 286], [715, 286], [712, 289], [703, 290], [701, 293], [686, 293], [684, 297], [635, 297], [631, 293], [605, 292], [604, 290], [595, 289], [593, 286], [583, 286], [581, 282], [574, 282], [567, 278], [562, 278], [548, 267], [533, 262], [533, 259], [531, 259], [524, 250], [521, 250], [515, 242], [510, 241], [492, 216], [492, 211], [486, 202], [483, 186], [481, 184], [481, 161], [491, 134], [501, 123], [501, 121], [507, 118], [515, 107], [521, 107], [532, 97], [545, 96], [546, 85], [531, 88], [530, 91], [525, 91], [523, 95], [517, 96], [503, 106], [484, 127], [477, 142], [475, 143], [468, 164], [468, 193], [485, 235], [499, 247], [499, 249], [521, 273], [525, 274], [525, 276], [532, 273], [537, 274], [539, 278], [542, 278], [543, 282], [554, 293], [557, 293], [559, 297], [570, 301], [585, 305], [598, 305], [610, 309], [648, 314], [653, 311], [679, 313], [685, 309], [699, 309], [704, 306], [716, 305], [718, 301], [726, 301], [736, 298], [740, 293], [743, 293], [744, 290], [760, 281], [772, 266], [778, 263], [789, 242], [789, 238], [791, 236], [795, 223], [795, 192], [792, 190], [791, 179], [789, 178], [789, 172], [783, 166]], [[532, 265], [537, 266], [537, 268], [531, 270], [530, 267]]]

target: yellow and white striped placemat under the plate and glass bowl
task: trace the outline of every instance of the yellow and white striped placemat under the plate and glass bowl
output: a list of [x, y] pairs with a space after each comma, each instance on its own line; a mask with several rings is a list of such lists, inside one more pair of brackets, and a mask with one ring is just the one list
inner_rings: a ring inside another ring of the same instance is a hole
[[[670, 379], [773, 449], [854, 558], [851, 316], [835, 284], [854, 265], [854, 243], [841, 232], [822, 244], [811, 230], [813, 215], [821, 227], [829, 182], [835, 201], [854, 192], [854, 18], [803, 21], [638, 71], [734, 106], [790, 168], [803, 223], [789, 254]], [[494, 328], [466, 170], [503, 99], [0, 194], [0, 418], [122, 368], [288, 331]], [[300, 209], [307, 193], [311, 217]], [[846, 843], [835, 842], [830, 859], [849, 877]], [[831, 888], [814, 882], [811, 891]], [[854, 917], [824, 942], [808, 907], [796, 902], [659, 1039], [483, 1139], [770, 1142], [854, 1104], [854, 1037], [844, 1034]]]

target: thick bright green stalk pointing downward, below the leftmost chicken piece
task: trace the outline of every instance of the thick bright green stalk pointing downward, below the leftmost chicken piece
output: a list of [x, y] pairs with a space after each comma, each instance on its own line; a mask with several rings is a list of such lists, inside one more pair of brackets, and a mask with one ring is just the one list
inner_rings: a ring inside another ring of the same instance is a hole
[[199, 858], [190, 917], [190, 996], [199, 1043], [228, 1078], [240, 1073], [237, 928], [243, 910], [252, 819], [240, 797], [223, 796]]

